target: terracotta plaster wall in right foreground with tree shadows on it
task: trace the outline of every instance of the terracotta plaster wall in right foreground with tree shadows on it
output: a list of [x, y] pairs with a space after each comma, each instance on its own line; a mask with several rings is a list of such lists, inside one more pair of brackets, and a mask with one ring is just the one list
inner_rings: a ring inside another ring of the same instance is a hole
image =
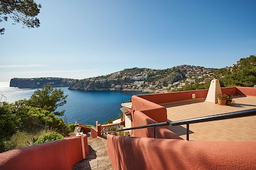
[[256, 142], [108, 135], [113, 169], [256, 169]]

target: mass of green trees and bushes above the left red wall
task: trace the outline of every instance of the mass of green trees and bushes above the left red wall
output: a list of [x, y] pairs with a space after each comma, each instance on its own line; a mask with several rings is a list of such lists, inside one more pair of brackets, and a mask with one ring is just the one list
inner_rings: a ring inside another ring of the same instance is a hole
[[[15, 103], [0, 104], [0, 152], [24, 145], [24, 136], [38, 136], [42, 131], [53, 131], [66, 136], [71, 132], [64, 120], [56, 115], [63, 115], [65, 110], [56, 112], [56, 108], [65, 104], [67, 96], [61, 89], [52, 89], [46, 84], [42, 90], [36, 90], [30, 99]], [[55, 112], [54, 112], [55, 111]], [[73, 130], [73, 129], [72, 129]], [[21, 135], [23, 144], [14, 141]], [[51, 135], [52, 136], [52, 135]], [[51, 137], [50, 136], [50, 137]], [[52, 139], [52, 138], [51, 138]], [[27, 139], [28, 143], [35, 140]], [[45, 141], [47, 141], [45, 137]], [[26, 143], [26, 142], [25, 142]]]

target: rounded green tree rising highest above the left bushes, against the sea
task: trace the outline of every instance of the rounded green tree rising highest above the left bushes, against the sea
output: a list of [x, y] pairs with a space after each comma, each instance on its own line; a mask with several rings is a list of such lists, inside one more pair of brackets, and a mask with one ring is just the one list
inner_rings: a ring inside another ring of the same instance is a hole
[[[65, 99], [67, 99], [67, 95], [64, 95], [63, 90], [56, 88], [53, 89], [51, 85], [47, 83], [44, 85], [42, 90], [37, 89], [26, 102], [29, 106], [54, 112], [58, 106], [63, 106], [63, 104], [67, 103]], [[55, 111], [54, 114], [63, 115], [64, 112], [65, 110]]]

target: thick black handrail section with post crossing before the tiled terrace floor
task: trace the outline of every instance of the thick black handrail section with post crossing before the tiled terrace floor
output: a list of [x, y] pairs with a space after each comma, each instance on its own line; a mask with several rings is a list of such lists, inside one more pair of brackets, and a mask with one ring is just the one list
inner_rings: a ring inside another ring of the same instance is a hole
[[239, 117], [250, 117], [256, 115], [256, 109], [251, 110], [243, 110], [243, 111], [234, 111], [230, 113], [223, 113], [219, 115], [211, 115], [207, 117], [198, 117], [198, 118], [190, 118], [186, 120], [179, 120], [175, 122], [171, 122], [171, 125], [187, 125], [187, 141], [189, 141], [189, 124], [196, 124], [202, 122], [210, 122], [215, 120], [224, 120], [229, 118], [239, 118]]

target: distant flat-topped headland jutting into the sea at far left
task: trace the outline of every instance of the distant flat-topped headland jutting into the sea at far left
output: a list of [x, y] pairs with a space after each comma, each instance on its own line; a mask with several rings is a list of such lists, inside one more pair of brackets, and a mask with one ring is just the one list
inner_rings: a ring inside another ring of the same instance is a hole
[[50, 83], [52, 87], [68, 87], [72, 79], [68, 78], [12, 78], [10, 87], [42, 88], [45, 83]]

